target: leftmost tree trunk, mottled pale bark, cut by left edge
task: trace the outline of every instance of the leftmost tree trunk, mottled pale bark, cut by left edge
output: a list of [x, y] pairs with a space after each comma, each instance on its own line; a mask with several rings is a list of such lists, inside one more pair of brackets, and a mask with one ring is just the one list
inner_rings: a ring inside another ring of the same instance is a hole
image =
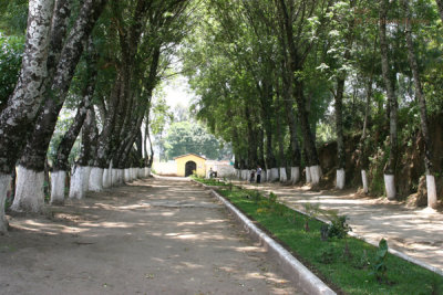
[[30, 0], [27, 41], [16, 89], [0, 114], [0, 232], [6, 232], [4, 200], [11, 171], [25, 145], [43, 99], [54, 0]]

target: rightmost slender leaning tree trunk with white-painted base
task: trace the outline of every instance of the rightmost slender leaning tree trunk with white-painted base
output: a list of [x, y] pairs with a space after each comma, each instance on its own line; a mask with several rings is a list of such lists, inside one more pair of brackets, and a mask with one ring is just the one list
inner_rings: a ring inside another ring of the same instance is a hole
[[[440, 2], [440, 3], [439, 3]], [[439, 7], [443, 8], [443, 3], [437, 1]], [[412, 75], [414, 77], [414, 86], [415, 86], [415, 97], [419, 99], [420, 106], [420, 124], [421, 131], [424, 139], [424, 167], [426, 172], [426, 190], [427, 190], [427, 207], [435, 209], [437, 206], [436, 198], [436, 188], [435, 188], [435, 178], [432, 171], [432, 160], [431, 160], [431, 138], [427, 129], [427, 113], [426, 113], [426, 99], [423, 94], [422, 83], [420, 78], [419, 65], [416, 62], [416, 56], [414, 52], [414, 43], [412, 39], [412, 30], [411, 30], [411, 12], [409, 8], [409, 3], [405, 0], [402, 0], [403, 9], [406, 15], [406, 45], [408, 45], [408, 59], [409, 64], [412, 71]], [[442, 12], [442, 11], [441, 11]], [[443, 14], [442, 14], [443, 15]]]

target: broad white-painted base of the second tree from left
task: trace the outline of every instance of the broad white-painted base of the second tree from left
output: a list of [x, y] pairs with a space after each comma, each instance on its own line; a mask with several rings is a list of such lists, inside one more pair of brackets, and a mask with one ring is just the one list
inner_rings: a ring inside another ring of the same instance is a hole
[[39, 213], [44, 206], [44, 172], [35, 172], [19, 166], [17, 171], [17, 189], [12, 211]]

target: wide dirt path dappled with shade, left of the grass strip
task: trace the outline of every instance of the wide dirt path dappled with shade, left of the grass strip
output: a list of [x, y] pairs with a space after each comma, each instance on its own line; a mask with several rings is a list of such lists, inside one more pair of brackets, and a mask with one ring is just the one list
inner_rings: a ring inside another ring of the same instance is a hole
[[10, 223], [1, 294], [299, 293], [190, 182], [136, 181]]

